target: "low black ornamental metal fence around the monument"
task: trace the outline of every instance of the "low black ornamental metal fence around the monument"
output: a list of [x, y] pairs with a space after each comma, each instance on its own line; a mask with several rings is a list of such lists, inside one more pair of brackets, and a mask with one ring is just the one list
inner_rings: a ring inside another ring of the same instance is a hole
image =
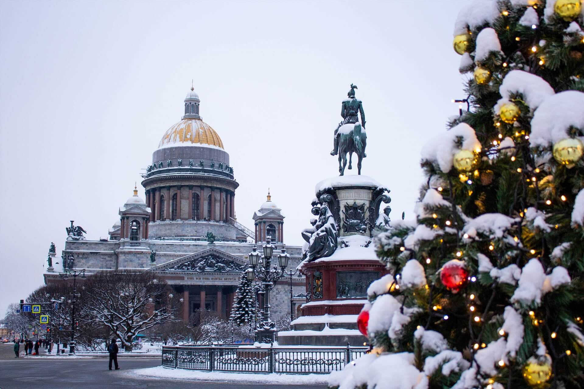
[[239, 373], [326, 374], [341, 370], [369, 348], [255, 348], [251, 346], [163, 346], [162, 366]]

